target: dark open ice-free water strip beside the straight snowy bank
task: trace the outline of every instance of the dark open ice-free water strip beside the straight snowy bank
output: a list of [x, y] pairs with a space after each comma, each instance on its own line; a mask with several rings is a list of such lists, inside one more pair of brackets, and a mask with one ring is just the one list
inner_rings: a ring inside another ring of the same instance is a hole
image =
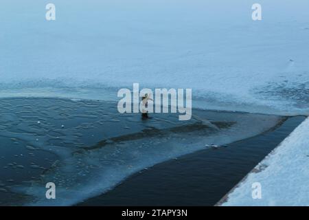
[[137, 173], [80, 206], [214, 206], [305, 117], [262, 135], [185, 155]]

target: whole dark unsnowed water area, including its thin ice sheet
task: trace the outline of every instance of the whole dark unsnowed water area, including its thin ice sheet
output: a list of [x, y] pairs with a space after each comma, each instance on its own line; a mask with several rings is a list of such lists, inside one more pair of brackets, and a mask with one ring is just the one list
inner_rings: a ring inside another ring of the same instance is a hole
[[117, 102], [56, 98], [2, 99], [0, 111], [5, 206], [213, 205], [304, 120], [199, 109], [141, 120]]

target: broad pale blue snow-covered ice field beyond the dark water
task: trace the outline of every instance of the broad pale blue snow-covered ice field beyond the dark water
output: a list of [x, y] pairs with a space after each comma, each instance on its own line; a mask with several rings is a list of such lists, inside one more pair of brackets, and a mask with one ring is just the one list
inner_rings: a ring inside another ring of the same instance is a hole
[[52, 3], [56, 21], [45, 1], [1, 1], [0, 97], [115, 100], [140, 83], [192, 88], [203, 109], [309, 113], [308, 1]]

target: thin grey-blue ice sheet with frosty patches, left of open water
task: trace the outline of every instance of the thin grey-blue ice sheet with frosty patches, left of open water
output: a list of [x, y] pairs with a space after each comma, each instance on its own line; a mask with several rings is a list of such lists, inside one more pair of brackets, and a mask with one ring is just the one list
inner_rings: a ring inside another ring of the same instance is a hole
[[[23, 186], [3, 186], [10, 193], [29, 195], [32, 199], [27, 203], [19, 199], [28, 205], [72, 205], [106, 192], [139, 170], [211, 144], [220, 147], [258, 135], [283, 120], [275, 115], [194, 109], [190, 121], [179, 121], [174, 114], [154, 114], [143, 121], [139, 114], [117, 113], [113, 102], [36, 98], [3, 100], [1, 111], [3, 140], [18, 140], [19, 148], [35, 157], [41, 157], [38, 151], [42, 150], [58, 155], [58, 162], [45, 167], [40, 177], [32, 180], [30, 176], [19, 183]], [[8, 157], [7, 148], [12, 148], [12, 142], [1, 146]], [[4, 165], [15, 162], [14, 157], [1, 161]], [[28, 162], [21, 165], [25, 171], [32, 168]], [[53, 201], [45, 198], [45, 184], [50, 181], [57, 186]]]

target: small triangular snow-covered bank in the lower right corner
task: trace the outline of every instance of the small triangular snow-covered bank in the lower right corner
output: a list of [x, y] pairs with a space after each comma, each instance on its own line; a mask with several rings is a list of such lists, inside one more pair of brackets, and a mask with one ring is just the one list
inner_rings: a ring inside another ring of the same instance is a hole
[[[222, 206], [309, 206], [309, 118], [227, 195]], [[252, 184], [261, 184], [253, 199]]]

